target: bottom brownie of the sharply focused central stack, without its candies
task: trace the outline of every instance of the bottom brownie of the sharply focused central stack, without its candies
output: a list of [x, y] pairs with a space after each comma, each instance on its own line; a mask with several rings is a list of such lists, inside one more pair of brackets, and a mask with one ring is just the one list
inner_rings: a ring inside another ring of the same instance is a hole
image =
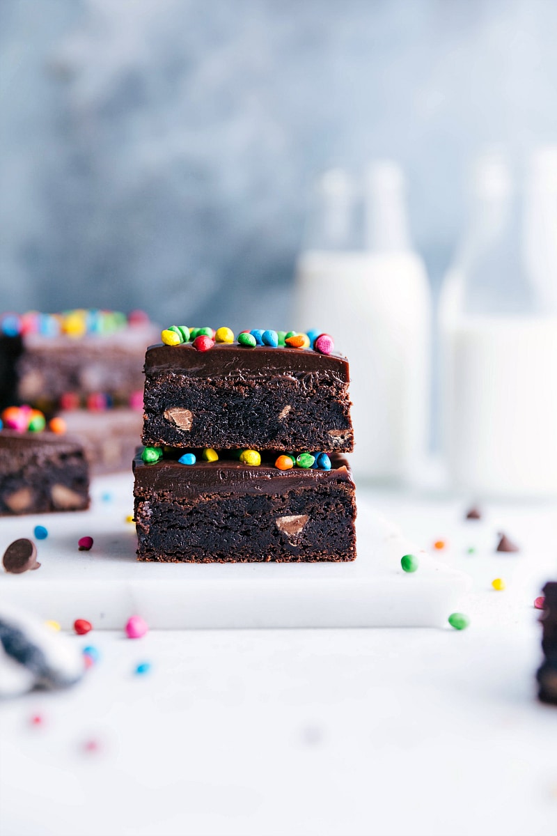
[[139, 560], [172, 563], [348, 561], [356, 557], [347, 461], [280, 471], [223, 459], [134, 459]]

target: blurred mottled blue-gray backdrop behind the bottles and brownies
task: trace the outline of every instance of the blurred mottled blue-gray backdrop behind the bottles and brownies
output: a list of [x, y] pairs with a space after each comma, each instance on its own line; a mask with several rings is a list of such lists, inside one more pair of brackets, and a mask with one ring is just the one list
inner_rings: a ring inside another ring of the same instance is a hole
[[311, 182], [377, 155], [435, 287], [471, 156], [557, 136], [556, 32], [551, 0], [3, 0], [1, 307], [286, 327]]

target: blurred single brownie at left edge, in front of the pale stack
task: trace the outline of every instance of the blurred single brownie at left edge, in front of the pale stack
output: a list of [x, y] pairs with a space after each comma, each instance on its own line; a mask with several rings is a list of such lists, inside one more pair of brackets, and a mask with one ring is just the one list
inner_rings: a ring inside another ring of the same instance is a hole
[[88, 507], [89, 468], [79, 441], [53, 432], [0, 432], [0, 515]]

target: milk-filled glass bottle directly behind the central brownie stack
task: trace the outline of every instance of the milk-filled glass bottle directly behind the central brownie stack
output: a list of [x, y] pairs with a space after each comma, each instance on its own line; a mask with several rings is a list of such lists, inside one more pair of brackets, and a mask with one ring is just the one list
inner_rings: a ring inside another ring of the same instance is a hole
[[358, 477], [386, 481], [416, 477], [429, 431], [431, 301], [404, 190], [391, 161], [369, 166], [360, 191], [346, 172], [322, 177], [293, 315], [296, 328], [332, 334], [347, 354], [352, 466]]

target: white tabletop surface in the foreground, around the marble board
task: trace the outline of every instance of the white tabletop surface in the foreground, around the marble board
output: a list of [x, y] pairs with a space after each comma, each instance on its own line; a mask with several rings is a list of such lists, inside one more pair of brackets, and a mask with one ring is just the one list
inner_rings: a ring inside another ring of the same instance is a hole
[[[557, 577], [554, 508], [464, 523], [460, 502], [367, 498], [473, 574], [468, 630], [76, 636], [101, 653], [81, 685], [2, 706], [3, 836], [557, 832], [557, 708], [535, 700], [532, 607]], [[518, 556], [494, 553], [499, 530]]]

